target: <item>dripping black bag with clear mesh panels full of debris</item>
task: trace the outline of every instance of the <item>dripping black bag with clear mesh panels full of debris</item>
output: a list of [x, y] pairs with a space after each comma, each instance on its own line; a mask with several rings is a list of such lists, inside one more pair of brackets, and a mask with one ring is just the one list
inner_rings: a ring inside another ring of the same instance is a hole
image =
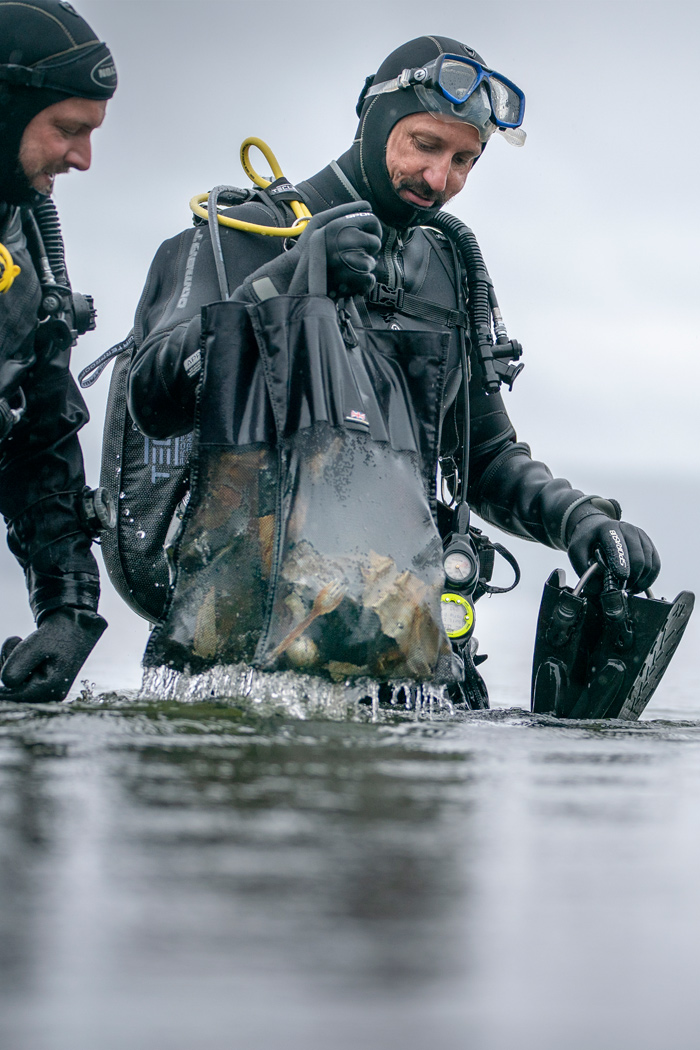
[[146, 666], [451, 679], [427, 496], [448, 338], [343, 327], [323, 295], [205, 310], [192, 497]]

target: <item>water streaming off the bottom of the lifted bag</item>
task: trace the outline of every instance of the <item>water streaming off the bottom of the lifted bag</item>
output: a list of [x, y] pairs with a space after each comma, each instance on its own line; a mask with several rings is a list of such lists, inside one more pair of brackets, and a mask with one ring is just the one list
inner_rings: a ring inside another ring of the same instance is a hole
[[233, 700], [300, 719], [320, 715], [334, 720], [382, 721], [393, 712], [418, 721], [455, 713], [445, 686], [415, 681], [380, 685], [370, 678], [333, 682], [295, 671], [258, 671], [248, 664], [215, 667], [200, 674], [165, 666], [146, 668], [139, 699], [183, 704]]

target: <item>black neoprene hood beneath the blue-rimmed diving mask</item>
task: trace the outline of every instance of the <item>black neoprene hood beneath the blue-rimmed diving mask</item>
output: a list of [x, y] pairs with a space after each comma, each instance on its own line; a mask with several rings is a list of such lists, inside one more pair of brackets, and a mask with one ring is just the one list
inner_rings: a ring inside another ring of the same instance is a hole
[[402, 44], [384, 59], [374, 77], [367, 77], [358, 100], [360, 124], [352, 149], [345, 154], [358, 189], [366, 196], [379, 218], [389, 226], [408, 227], [424, 223], [439, 208], [413, 208], [391, 186], [386, 168], [386, 142], [391, 129], [404, 117], [423, 113], [425, 107], [412, 87], [365, 98], [367, 88], [399, 77], [404, 69], [425, 65], [440, 55], [464, 55], [482, 64], [484, 59], [467, 44], [450, 37], [418, 37]]

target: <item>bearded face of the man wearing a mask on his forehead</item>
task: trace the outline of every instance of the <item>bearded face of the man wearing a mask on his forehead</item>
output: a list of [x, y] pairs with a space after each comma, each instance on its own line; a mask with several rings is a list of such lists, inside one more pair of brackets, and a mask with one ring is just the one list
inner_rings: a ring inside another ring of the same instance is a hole
[[434, 208], [463, 188], [482, 151], [476, 128], [430, 113], [411, 113], [391, 128], [386, 168], [402, 201]]

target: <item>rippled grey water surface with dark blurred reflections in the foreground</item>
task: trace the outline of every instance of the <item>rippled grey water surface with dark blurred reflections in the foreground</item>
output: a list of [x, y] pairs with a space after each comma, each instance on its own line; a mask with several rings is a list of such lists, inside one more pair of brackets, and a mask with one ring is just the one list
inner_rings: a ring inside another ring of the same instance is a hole
[[700, 722], [0, 708], [12, 1050], [697, 1044]]

